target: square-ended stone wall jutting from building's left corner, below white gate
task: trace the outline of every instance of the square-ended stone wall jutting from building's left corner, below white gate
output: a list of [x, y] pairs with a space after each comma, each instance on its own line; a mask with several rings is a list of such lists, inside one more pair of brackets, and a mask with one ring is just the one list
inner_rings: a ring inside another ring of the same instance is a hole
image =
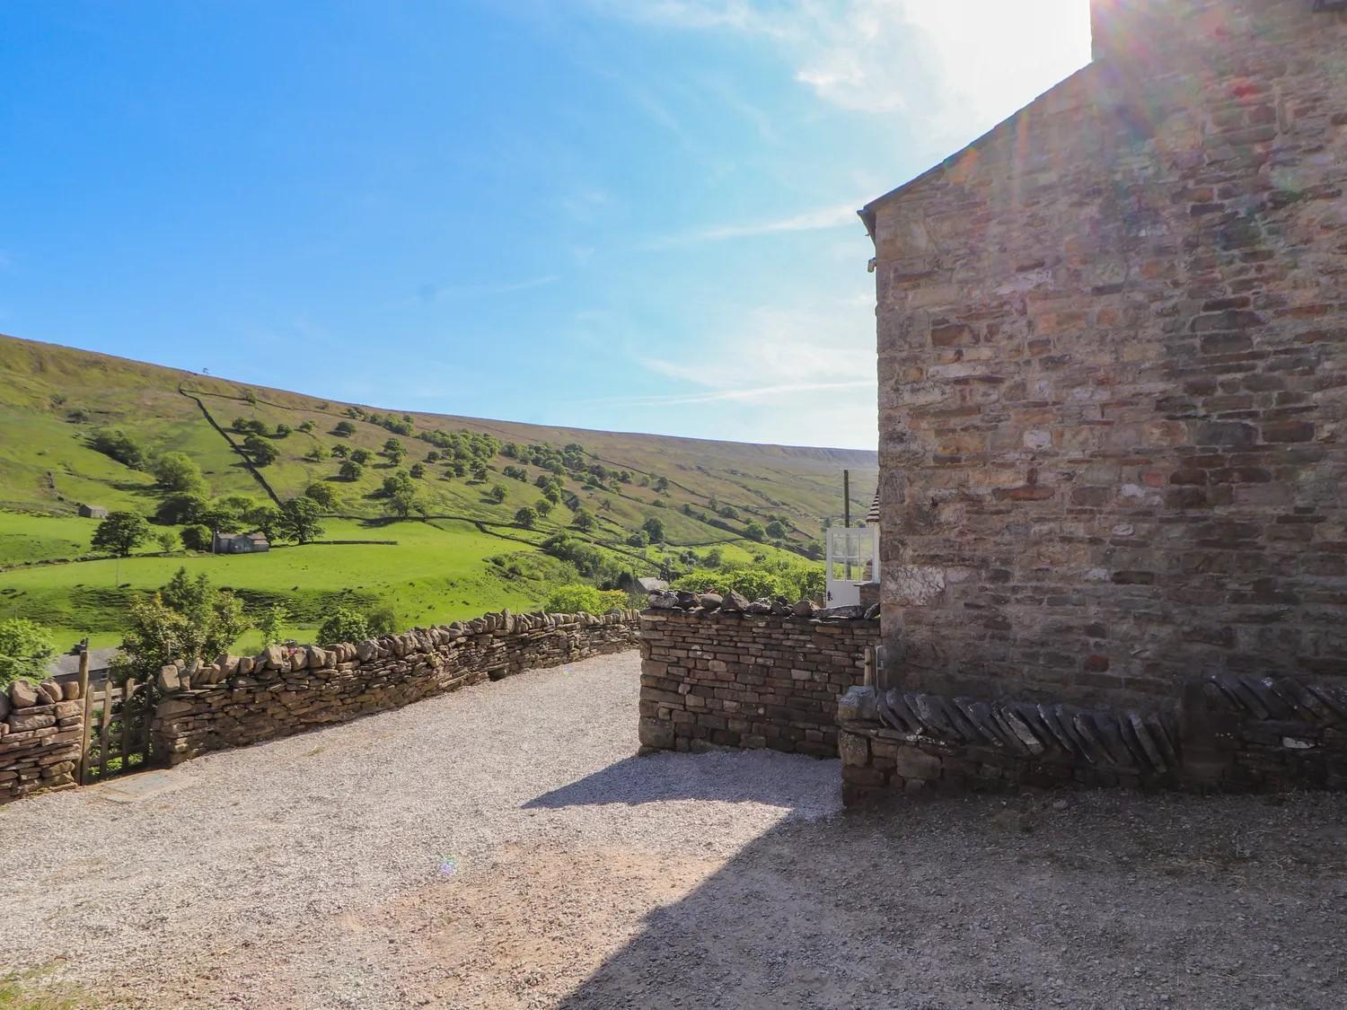
[[641, 614], [641, 743], [835, 757], [838, 699], [862, 683], [878, 621], [687, 603]]

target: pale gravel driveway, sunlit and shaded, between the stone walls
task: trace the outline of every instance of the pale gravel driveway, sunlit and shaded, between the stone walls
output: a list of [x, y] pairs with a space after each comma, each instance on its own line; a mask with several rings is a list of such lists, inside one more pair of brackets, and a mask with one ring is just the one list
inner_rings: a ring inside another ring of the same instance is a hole
[[79, 1006], [1347, 1005], [1347, 797], [842, 813], [835, 762], [636, 758], [637, 668], [0, 808], [0, 960]]

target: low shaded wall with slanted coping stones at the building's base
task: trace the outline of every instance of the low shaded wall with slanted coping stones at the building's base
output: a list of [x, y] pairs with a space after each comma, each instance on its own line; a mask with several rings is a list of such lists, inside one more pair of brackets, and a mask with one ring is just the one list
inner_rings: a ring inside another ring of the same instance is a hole
[[1347, 691], [1214, 675], [1172, 712], [854, 688], [839, 704], [846, 803], [920, 789], [1347, 788]]

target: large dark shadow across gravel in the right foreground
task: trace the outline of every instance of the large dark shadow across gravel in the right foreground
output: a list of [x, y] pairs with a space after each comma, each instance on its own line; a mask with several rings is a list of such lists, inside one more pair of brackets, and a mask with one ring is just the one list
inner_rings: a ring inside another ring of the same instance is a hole
[[560, 1006], [1339, 1010], [1344, 839], [1347, 797], [1321, 796], [983, 796], [787, 821]]

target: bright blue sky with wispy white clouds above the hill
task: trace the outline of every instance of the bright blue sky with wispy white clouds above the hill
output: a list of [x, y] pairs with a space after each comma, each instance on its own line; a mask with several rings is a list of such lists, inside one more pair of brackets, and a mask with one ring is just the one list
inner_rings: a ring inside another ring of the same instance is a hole
[[0, 333], [379, 407], [870, 448], [854, 210], [1088, 0], [5, 0]]

